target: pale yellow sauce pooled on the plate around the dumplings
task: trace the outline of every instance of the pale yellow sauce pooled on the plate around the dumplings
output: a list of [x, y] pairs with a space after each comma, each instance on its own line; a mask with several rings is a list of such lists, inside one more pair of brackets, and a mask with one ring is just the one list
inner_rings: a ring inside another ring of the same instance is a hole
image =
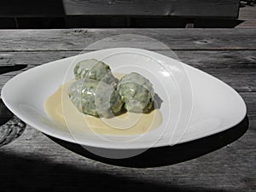
[[73, 81], [62, 84], [44, 103], [46, 113], [63, 129], [125, 136], [143, 134], [161, 125], [162, 116], [159, 109], [154, 109], [150, 113], [126, 112], [111, 119], [101, 119], [80, 113], [67, 95], [67, 89], [72, 83]]

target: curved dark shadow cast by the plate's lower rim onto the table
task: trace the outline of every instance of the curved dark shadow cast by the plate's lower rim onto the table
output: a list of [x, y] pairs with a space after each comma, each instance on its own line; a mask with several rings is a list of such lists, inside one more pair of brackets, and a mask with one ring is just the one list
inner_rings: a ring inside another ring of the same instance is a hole
[[[48, 137], [55, 141], [55, 143], [59, 143], [64, 148], [67, 148], [92, 160], [101, 161], [103, 163], [115, 166], [154, 167], [168, 166], [183, 162], [185, 160], [192, 160], [194, 158], [200, 157], [201, 155], [208, 154], [218, 148], [222, 148], [241, 137], [247, 131], [248, 125], [249, 121], [246, 117], [238, 125], [218, 134], [204, 137], [189, 143], [177, 144], [172, 147], [149, 148], [143, 154], [138, 154], [137, 156], [126, 159], [104, 158], [90, 153], [79, 144], [68, 143], [55, 137]], [[101, 150], [104, 149], [102, 148]], [[111, 152], [113, 153], [113, 151]], [[122, 150], [116, 150], [116, 153], [122, 153]]]

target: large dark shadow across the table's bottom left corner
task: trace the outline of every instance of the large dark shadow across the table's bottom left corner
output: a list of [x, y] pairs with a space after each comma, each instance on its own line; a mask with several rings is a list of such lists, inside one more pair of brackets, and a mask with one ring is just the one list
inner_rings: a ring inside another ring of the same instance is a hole
[[[0, 190], [14, 191], [183, 191], [183, 192], [222, 192], [222, 189], [207, 189], [171, 182], [164, 183], [159, 175], [148, 182], [144, 172], [137, 177], [136, 172], [125, 176], [125, 170], [91, 169], [91, 166], [76, 166], [52, 163], [41, 157], [20, 157], [0, 152]], [[122, 169], [122, 168], [119, 168]], [[117, 174], [121, 172], [122, 174]], [[159, 174], [159, 173], [157, 173]], [[171, 175], [172, 173], [170, 173]], [[213, 186], [212, 186], [213, 188]]]

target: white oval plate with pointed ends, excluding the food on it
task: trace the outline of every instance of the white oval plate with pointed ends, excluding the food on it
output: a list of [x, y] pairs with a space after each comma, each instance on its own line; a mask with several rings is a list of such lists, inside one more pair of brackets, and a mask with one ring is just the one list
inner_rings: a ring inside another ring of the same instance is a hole
[[[142, 73], [163, 101], [163, 123], [143, 136], [93, 136], [56, 128], [44, 112], [44, 102], [63, 82], [73, 78], [77, 61], [105, 61], [113, 72]], [[102, 49], [49, 62], [10, 79], [3, 102], [28, 125], [49, 136], [85, 146], [113, 149], [149, 148], [184, 143], [237, 125], [246, 105], [229, 85], [194, 67], [144, 49]]]

